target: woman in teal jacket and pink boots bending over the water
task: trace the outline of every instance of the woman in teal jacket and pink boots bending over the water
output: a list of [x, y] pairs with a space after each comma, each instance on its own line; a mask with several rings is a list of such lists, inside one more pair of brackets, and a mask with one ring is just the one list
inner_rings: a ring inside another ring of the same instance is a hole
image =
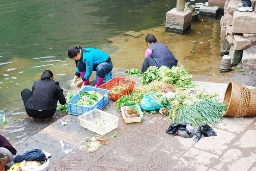
[[[76, 83], [76, 87], [81, 87], [82, 84], [88, 85], [92, 71], [96, 71], [97, 83], [94, 87], [98, 88], [102, 84], [106, 73], [113, 69], [109, 54], [99, 49], [82, 48], [81, 46], [71, 47], [68, 49], [68, 57], [75, 60], [76, 72], [72, 83]], [[81, 80], [76, 82], [80, 76]]]

